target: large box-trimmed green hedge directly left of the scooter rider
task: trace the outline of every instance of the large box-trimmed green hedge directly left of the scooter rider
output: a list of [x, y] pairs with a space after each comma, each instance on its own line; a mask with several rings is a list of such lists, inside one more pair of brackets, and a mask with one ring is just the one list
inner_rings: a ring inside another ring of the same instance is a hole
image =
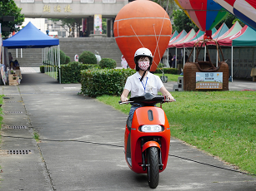
[[117, 95], [123, 92], [123, 86], [136, 71], [132, 69], [93, 69], [81, 71], [82, 93], [85, 96]]

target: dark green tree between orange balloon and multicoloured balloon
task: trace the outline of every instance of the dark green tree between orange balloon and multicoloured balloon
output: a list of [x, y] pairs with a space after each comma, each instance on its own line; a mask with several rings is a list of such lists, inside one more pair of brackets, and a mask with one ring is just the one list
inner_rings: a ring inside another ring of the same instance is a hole
[[191, 29], [195, 31], [198, 30], [198, 27], [190, 20], [185, 12], [181, 9], [173, 11], [173, 31], [182, 32], [185, 30], [189, 32]]

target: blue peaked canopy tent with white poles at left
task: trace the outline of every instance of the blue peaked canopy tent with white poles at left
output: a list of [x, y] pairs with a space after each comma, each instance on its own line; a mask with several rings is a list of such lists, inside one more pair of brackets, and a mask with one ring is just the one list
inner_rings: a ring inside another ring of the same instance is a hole
[[[57, 51], [53, 50], [54, 46], [58, 46], [56, 47]], [[31, 22], [28, 22], [26, 27], [23, 27], [13, 37], [4, 40], [3, 48], [45, 48], [42, 51], [42, 60], [47, 61], [48, 65], [58, 66], [60, 72], [59, 40], [44, 34]], [[53, 71], [54, 68], [51, 67], [50, 71]], [[59, 81], [61, 83], [60, 79]]]

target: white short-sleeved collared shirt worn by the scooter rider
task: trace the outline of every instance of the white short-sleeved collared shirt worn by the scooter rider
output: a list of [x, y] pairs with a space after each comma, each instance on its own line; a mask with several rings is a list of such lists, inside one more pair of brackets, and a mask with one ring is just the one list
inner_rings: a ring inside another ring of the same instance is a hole
[[143, 77], [143, 81], [140, 81], [141, 76], [138, 71], [132, 76], [128, 76], [124, 89], [131, 91], [131, 97], [142, 96], [145, 92], [158, 94], [158, 91], [163, 87], [163, 82], [159, 76], [153, 75], [148, 71], [148, 75]]

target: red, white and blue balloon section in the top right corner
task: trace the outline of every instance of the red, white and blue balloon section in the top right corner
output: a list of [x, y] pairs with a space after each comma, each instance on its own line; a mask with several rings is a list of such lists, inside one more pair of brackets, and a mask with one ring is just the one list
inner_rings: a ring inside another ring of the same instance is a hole
[[214, 0], [222, 7], [256, 30], [255, 0]]

